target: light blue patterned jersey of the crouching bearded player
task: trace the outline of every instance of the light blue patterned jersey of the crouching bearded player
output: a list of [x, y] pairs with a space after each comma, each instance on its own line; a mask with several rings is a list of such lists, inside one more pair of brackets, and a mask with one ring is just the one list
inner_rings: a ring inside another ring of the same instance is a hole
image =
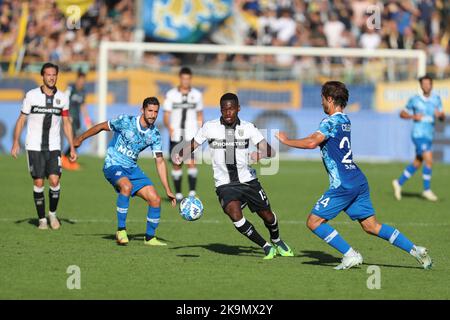
[[108, 145], [105, 158], [105, 168], [122, 166], [133, 168], [137, 166], [139, 153], [151, 147], [154, 153], [162, 152], [161, 134], [156, 126], [142, 128], [140, 116], [121, 115], [108, 121], [109, 128], [114, 131], [114, 137]]

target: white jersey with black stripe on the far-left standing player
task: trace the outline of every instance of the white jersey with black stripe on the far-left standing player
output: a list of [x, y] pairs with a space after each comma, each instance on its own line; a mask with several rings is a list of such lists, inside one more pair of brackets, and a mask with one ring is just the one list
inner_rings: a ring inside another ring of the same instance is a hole
[[69, 103], [63, 92], [56, 88], [53, 92], [46, 95], [39, 87], [25, 95], [21, 112], [28, 115], [27, 150], [61, 150], [61, 117], [69, 115]]

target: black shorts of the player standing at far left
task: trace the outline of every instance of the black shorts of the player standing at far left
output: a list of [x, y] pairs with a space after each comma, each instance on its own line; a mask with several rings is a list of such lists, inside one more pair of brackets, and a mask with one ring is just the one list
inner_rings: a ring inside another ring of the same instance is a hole
[[54, 174], [61, 176], [61, 151], [27, 151], [28, 170], [33, 179], [48, 178]]

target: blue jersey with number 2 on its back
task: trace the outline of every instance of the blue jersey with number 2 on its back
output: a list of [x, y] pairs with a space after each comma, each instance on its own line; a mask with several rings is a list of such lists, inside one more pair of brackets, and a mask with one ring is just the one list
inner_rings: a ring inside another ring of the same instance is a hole
[[318, 131], [325, 136], [320, 151], [330, 179], [330, 189], [340, 186], [350, 189], [367, 183], [366, 177], [353, 162], [348, 116], [341, 112], [335, 113], [322, 120]]

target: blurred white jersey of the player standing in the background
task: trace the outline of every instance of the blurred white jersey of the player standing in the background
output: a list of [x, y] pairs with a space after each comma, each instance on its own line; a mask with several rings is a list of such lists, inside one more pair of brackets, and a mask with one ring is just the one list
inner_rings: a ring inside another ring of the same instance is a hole
[[170, 140], [192, 140], [198, 130], [197, 112], [203, 110], [203, 95], [195, 88], [187, 94], [172, 88], [166, 93], [163, 110], [170, 112], [170, 125], [174, 129]]

